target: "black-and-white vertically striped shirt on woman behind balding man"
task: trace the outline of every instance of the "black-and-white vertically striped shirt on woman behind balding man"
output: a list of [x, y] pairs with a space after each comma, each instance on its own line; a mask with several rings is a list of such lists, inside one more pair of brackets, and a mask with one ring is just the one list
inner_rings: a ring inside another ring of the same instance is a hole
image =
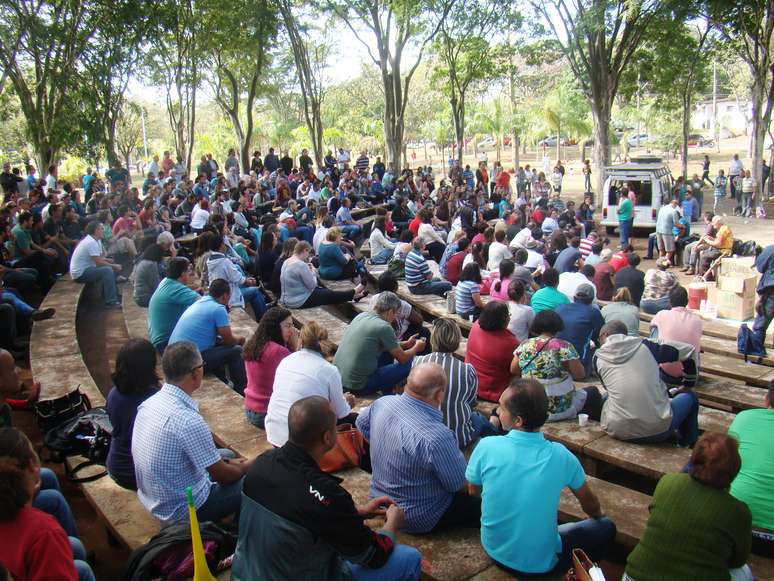
[[[529, 308], [529, 307], [527, 307]], [[443, 367], [449, 385], [441, 404], [443, 423], [449, 426], [457, 438], [460, 448], [465, 448], [476, 437], [470, 414], [476, 405], [478, 392], [478, 375], [476, 368], [457, 359], [452, 353], [430, 353], [414, 357], [412, 366], [420, 363], [437, 363]]]

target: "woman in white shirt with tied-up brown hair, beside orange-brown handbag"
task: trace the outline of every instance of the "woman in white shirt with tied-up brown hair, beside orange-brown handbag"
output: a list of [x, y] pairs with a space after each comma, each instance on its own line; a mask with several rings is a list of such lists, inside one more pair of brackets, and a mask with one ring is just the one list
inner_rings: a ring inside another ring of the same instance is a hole
[[305, 397], [319, 395], [330, 401], [339, 421], [354, 423], [356, 417], [352, 414], [355, 398], [344, 394], [339, 370], [327, 361], [333, 355], [328, 331], [311, 321], [301, 328], [299, 342], [300, 349], [277, 366], [266, 412], [266, 439], [277, 447], [288, 439], [290, 406]]

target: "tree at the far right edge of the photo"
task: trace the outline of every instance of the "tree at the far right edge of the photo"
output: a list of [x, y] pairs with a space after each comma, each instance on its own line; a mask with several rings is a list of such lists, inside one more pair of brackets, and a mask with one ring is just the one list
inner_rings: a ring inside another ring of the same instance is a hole
[[710, 1], [710, 15], [726, 42], [747, 63], [752, 76], [752, 176], [761, 187], [766, 134], [774, 103], [774, 0]]

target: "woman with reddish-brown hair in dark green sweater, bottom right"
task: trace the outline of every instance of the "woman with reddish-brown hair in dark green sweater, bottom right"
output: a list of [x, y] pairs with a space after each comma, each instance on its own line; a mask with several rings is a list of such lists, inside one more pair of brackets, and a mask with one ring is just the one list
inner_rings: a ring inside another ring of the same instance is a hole
[[750, 509], [728, 492], [741, 464], [736, 440], [705, 433], [688, 474], [659, 480], [640, 542], [626, 560], [624, 581], [732, 579], [752, 581]]

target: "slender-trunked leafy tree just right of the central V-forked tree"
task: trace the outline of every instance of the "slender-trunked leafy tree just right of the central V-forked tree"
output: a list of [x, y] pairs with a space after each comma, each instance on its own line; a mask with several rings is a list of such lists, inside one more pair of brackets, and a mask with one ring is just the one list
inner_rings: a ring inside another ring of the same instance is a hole
[[489, 41], [495, 30], [515, 28], [519, 14], [509, 3], [498, 0], [457, 2], [443, 19], [440, 34], [433, 43], [439, 59], [433, 78], [445, 85], [451, 105], [457, 159], [462, 163], [465, 145], [465, 99], [471, 83], [490, 76], [494, 45]]

